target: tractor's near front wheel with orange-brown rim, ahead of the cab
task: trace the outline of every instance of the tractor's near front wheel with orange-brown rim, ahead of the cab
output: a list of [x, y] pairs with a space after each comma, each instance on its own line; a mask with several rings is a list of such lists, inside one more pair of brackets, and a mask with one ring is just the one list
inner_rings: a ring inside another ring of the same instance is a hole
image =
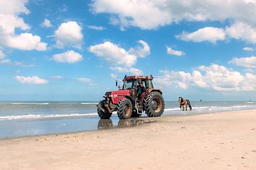
[[132, 102], [128, 98], [119, 101], [117, 105], [117, 115], [119, 119], [129, 119], [132, 116]]

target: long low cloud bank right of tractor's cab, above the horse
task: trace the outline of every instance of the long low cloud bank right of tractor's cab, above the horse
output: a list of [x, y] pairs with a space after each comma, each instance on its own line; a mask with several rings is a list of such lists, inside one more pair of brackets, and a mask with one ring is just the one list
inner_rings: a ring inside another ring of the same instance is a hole
[[198, 87], [215, 91], [255, 91], [255, 74], [240, 74], [218, 64], [201, 66], [193, 72], [176, 72], [160, 70], [160, 77], [156, 77], [156, 84], [166, 87], [176, 86], [181, 89]]

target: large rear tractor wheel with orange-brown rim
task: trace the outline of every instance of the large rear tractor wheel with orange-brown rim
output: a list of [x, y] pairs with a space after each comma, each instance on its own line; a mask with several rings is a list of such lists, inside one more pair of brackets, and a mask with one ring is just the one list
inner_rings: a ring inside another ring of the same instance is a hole
[[144, 111], [149, 117], [159, 117], [164, 113], [164, 98], [159, 92], [151, 92], [144, 99]]

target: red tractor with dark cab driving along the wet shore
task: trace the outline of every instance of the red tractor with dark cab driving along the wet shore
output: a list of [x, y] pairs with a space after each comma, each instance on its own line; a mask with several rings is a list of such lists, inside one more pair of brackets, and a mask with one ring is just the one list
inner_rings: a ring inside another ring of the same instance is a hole
[[[109, 119], [113, 111], [117, 111], [119, 119], [139, 117], [143, 111], [149, 117], [161, 116], [164, 98], [160, 89], [154, 89], [152, 80], [152, 76], [125, 76], [122, 89], [119, 86], [118, 91], [107, 91], [103, 96], [105, 99], [97, 104], [100, 118]], [[139, 92], [140, 86], [144, 91]]]

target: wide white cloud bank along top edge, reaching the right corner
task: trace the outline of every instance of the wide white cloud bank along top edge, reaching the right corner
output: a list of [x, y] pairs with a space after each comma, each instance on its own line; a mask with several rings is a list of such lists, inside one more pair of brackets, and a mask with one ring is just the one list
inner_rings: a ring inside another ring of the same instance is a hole
[[[110, 22], [125, 29], [155, 29], [180, 21], [233, 21], [256, 26], [254, 0], [94, 0], [93, 13], [109, 13]], [[218, 9], [218, 10], [216, 10]]]

